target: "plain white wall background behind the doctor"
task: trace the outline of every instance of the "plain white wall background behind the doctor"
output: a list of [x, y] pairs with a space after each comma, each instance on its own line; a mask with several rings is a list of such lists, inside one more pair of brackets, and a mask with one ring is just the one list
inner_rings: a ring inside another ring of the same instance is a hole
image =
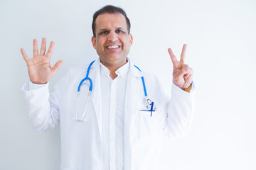
[[[188, 44], [196, 110], [185, 138], [165, 140], [159, 169], [256, 169], [256, 1], [0, 0], [0, 169], [60, 169], [60, 132], [39, 134], [28, 122], [21, 86], [28, 79], [20, 48], [33, 38], [55, 41], [51, 64], [69, 67], [97, 57], [92, 15], [112, 4], [127, 11], [134, 44], [129, 57], [156, 74], [170, 93], [172, 64]], [[151, 161], [151, 160], [149, 160]]]

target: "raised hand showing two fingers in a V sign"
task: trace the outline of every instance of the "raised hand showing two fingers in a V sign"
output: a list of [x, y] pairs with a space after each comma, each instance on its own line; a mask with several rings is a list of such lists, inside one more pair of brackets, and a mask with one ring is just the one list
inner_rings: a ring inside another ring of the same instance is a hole
[[193, 69], [188, 67], [187, 64], [184, 64], [185, 60], [185, 53], [186, 53], [187, 45], [184, 44], [181, 52], [181, 60], [178, 61], [174, 55], [174, 52], [171, 48], [168, 49], [169, 55], [171, 57], [171, 62], [174, 65], [174, 72], [173, 72], [173, 81], [176, 86], [181, 89], [187, 89], [191, 86], [191, 82], [193, 79]]

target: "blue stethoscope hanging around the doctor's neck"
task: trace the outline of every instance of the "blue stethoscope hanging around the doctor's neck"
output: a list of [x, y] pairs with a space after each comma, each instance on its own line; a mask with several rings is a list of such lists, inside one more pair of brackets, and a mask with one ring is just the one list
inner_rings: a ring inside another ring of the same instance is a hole
[[[90, 68], [92, 67], [92, 64], [95, 62], [95, 60], [94, 61], [92, 61], [90, 64], [89, 64], [89, 67], [88, 67], [88, 69], [87, 69], [87, 73], [86, 73], [86, 77], [85, 77], [85, 79], [82, 79], [81, 81], [80, 81], [80, 84], [78, 85], [78, 94], [77, 94], [77, 102], [76, 102], [76, 108], [75, 108], [75, 118], [73, 118], [73, 120], [76, 120], [76, 121], [78, 121], [78, 122], [86, 122], [87, 121], [87, 119], [85, 119], [85, 112], [86, 112], [86, 110], [87, 110], [87, 106], [88, 106], [88, 103], [89, 103], [89, 100], [90, 100], [90, 96], [91, 96], [91, 94], [92, 94], [92, 79], [90, 79], [90, 77], [89, 77], [89, 72], [90, 72]], [[134, 67], [136, 67], [137, 69], [139, 69], [139, 67], [137, 67], [136, 65], [134, 65]], [[139, 69], [139, 72], [142, 72], [140, 69]], [[82, 117], [79, 119], [78, 118], [78, 103], [79, 103], [79, 96], [80, 96], [80, 89], [81, 89], [81, 87], [82, 87], [82, 85], [83, 85], [83, 82], [84, 81], [90, 81], [90, 88], [89, 88], [89, 92], [88, 92], [88, 97], [87, 97], [87, 100], [86, 100], [86, 103], [85, 103], [85, 110], [83, 111], [83, 113], [82, 113]], [[149, 99], [149, 97], [148, 97], [148, 95], [147, 95], [147, 93], [146, 93], [146, 85], [145, 85], [145, 81], [144, 81], [144, 77], [142, 77], [142, 84], [143, 84], [143, 89], [144, 89], [144, 99], [143, 99], [143, 105], [144, 105], [144, 107], [146, 108], [146, 109], [144, 109], [144, 110], [140, 110], [140, 111], [150, 111], [151, 112], [151, 114], [150, 114], [150, 116], [152, 116], [152, 112], [153, 112], [153, 107], [154, 107], [154, 102], [152, 102], [150, 99]], [[150, 109], [150, 110], [149, 110]]]

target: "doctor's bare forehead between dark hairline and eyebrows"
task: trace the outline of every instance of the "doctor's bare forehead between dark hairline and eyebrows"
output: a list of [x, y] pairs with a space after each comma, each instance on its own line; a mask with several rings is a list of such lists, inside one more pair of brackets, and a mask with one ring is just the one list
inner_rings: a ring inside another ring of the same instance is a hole
[[125, 17], [121, 13], [104, 13], [96, 18], [96, 30], [107, 28], [127, 29]]

